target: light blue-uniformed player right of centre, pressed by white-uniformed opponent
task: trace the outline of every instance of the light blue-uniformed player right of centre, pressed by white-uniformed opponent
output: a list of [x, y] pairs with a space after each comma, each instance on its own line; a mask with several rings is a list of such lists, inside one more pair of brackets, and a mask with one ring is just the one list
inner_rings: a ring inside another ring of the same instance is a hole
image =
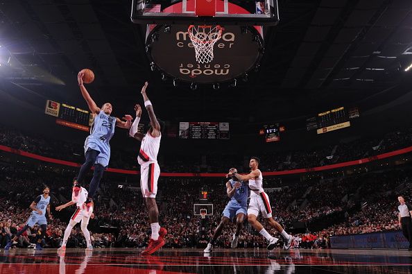
[[[229, 173], [230, 172], [237, 173], [237, 169], [232, 167], [232, 169], [229, 169]], [[244, 182], [239, 182], [239, 180], [233, 176], [226, 182], [226, 192], [228, 193], [230, 201], [222, 212], [221, 223], [219, 223], [216, 230], [214, 230], [212, 240], [207, 243], [207, 248], [203, 250], [205, 253], [212, 252], [216, 239], [221, 235], [223, 228], [225, 228], [229, 220], [233, 220], [234, 216], [236, 216], [236, 232], [233, 234], [232, 248], [237, 247], [239, 232], [243, 227], [243, 220], [247, 214], [249, 189], [248, 185]]]

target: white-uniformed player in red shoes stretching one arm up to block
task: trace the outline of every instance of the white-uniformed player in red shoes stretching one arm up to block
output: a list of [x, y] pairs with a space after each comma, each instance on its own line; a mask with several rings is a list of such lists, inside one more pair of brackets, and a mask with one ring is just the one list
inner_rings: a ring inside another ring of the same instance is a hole
[[157, 180], [160, 176], [160, 166], [157, 163], [157, 153], [159, 153], [162, 129], [160, 122], [156, 118], [153, 105], [146, 94], [147, 86], [148, 83], [144, 83], [144, 86], [141, 88], [141, 95], [143, 96], [144, 106], [146, 107], [151, 120], [151, 128], [149, 128], [146, 135], [137, 132], [141, 117], [141, 107], [140, 105], [135, 105], [136, 119], [133, 121], [129, 133], [131, 137], [141, 141], [139, 156], [137, 157], [137, 161], [140, 164], [140, 188], [141, 194], [143, 194], [143, 197], [146, 200], [146, 207], [148, 209], [152, 229], [148, 247], [141, 252], [143, 255], [152, 254], [164, 246], [164, 235], [167, 233], [165, 228], [160, 228], [159, 209], [157, 209], [156, 204]]

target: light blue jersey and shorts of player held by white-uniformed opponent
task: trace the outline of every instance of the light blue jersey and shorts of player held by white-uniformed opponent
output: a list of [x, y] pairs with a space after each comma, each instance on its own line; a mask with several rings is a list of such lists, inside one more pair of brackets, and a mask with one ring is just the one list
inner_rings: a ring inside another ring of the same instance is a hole
[[[237, 181], [232, 179], [229, 180], [230, 185], [232, 188]], [[233, 219], [234, 216], [237, 216], [239, 213], [243, 213], [245, 215], [248, 214], [248, 196], [249, 196], [249, 187], [244, 182], [240, 182], [241, 187], [234, 191], [234, 195], [230, 198], [228, 205], [226, 205], [225, 209], [222, 212], [222, 215], [228, 217], [229, 219]]]

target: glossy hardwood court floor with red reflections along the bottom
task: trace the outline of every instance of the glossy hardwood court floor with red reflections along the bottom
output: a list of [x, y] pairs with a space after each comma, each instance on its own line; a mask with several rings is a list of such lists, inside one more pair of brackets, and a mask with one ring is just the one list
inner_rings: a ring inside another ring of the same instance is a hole
[[68, 248], [0, 251], [0, 273], [411, 273], [406, 250], [162, 249], [141, 256], [138, 249]]

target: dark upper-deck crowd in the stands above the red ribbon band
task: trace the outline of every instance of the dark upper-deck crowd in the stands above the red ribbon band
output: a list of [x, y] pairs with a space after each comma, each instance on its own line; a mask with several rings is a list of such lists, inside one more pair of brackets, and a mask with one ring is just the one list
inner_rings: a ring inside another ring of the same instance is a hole
[[[0, 145], [22, 151], [55, 157], [61, 160], [83, 162], [83, 146], [62, 142], [49, 137], [22, 132], [0, 125]], [[412, 146], [412, 128], [389, 132], [377, 139], [357, 139], [334, 146], [323, 146], [309, 151], [289, 151], [277, 153], [255, 153], [261, 158], [260, 168], [264, 171], [311, 168], [373, 157], [388, 151]], [[125, 151], [112, 149], [110, 167], [137, 169], [136, 149]], [[207, 153], [207, 155], [160, 155], [159, 161], [164, 172], [226, 172], [228, 166], [236, 166], [239, 171], [248, 169], [248, 159], [244, 155]], [[224, 165], [224, 166], [223, 166]]]

